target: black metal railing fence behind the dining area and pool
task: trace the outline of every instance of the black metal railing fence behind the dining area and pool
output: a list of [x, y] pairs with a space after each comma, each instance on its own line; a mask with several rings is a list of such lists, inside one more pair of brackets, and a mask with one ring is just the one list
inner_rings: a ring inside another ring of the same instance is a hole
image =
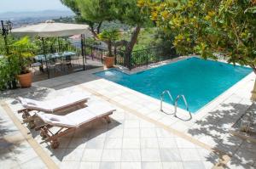
[[[77, 57], [73, 56], [71, 59], [76, 59], [77, 63], [78, 61], [81, 62], [76, 64], [78, 67], [84, 66], [84, 62], [86, 63], [86, 58], [103, 63], [103, 57], [108, 54], [108, 48], [104, 47], [100, 43], [95, 42], [84, 42], [83, 46], [81, 43], [61, 44], [61, 46], [46, 46], [45, 49], [49, 54], [60, 53], [62, 51], [72, 51], [74, 53], [73, 55]], [[84, 59], [82, 57], [83, 51], [85, 53]], [[114, 49], [113, 54], [115, 56], [115, 65], [122, 65], [129, 70], [140, 66], [148, 66], [150, 64], [158, 63], [167, 59], [174, 59], [179, 56], [173, 47], [147, 48], [133, 51], [131, 54], [126, 54], [125, 50]]]

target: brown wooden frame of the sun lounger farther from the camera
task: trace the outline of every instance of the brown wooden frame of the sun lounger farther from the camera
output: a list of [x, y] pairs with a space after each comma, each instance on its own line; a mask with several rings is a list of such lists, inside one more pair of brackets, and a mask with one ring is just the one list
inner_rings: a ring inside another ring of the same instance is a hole
[[[44, 111], [44, 113], [57, 113], [57, 112], [61, 112], [73, 107], [78, 107], [79, 105], [83, 105], [87, 102], [88, 99], [85, 100], [81, 100], [78, 101], [75, 104], [69, 104], [67, 106], [61, 107], [60, 109], [55, 109], [54, 111]], [[35, 123], [35, 117], [36, 115], [31, 115], [30, 112], [31, 111], [41, 111], [41, 110], [37, 110], [37, 109], [22, 109], [22, 110], [18, 110], [18, 113], [22, 113], [22, 118], [23, 118], [23, 122], [24, 123], [28, 123], [28, 127], [30, 127], [31, 129], [36, 127], [36, 123]]]

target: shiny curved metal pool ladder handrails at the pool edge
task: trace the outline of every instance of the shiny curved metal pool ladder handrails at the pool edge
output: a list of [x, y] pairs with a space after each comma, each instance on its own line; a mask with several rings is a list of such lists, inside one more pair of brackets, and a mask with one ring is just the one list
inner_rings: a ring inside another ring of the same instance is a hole
[[[187, 99], [185, 98], [185, 96], [183, 94], [179, 94], [177, 96], [177, 98], [175, 99], [175, 102], [174, 102], [174, 99], [172, 97], [172, 93], [169, 91], [169, 90], [165, 90], [164, 92], [161, 93], [160, 95], [160, 111], [163, 111], [163, 101], [164, 101], [164, 95], [165, 94], [168, 94], [169, 98], [172, 100], [172, 105], [174, 106], [174, 116], [177, 117], [177, 102], [180, 98], [183, 99], [183, 102], [184, 104], [186, 105], [186, 110], [189, 111], [189, 104], [187, 102]], [[190, 116], [190, 119], [192, 119], [192, 115], [191, 115], [191, 112], [189, 111], [189, 116]]]

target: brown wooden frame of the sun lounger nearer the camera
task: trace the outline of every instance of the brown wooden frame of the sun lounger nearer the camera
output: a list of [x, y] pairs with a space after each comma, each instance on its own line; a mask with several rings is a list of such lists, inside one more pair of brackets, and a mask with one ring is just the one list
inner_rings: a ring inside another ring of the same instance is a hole
[[35, 129], [37, 131], [40, 130], [40, 136], [44, 139], [44, 143], [49, 142], [52, 149], [57, 149], [60, 145], [58, 138], [61, 138], [70, 132], [74, 132], [81, 127], [85, 127], [85, 126], [89, 125], [91, 122], [98, 121], [100, 119], [105, 119], [108, 123], [110, 123], [111, 120], [110, 120], [109, 115], [112, 115], [113, 111], [111, 111], [105, 115], [99, 116], [91, 121], [85, 122], [84, 124], [80, 125], [79, 127], [60, 127], [60, 129], [55, 133], [51, 132], [49, 130], [49, 128], [54, 127], [49, 124], [44, 124], [40, 127], [36, 127]]

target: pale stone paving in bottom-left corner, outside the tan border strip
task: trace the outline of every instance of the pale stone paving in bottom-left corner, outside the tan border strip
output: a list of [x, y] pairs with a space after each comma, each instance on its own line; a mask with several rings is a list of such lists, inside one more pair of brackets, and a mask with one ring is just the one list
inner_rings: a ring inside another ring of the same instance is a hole
[[0, 106], [0, 167], [1, 168], [46, 168], [26, 138], [15, 127], [5, 110]]

